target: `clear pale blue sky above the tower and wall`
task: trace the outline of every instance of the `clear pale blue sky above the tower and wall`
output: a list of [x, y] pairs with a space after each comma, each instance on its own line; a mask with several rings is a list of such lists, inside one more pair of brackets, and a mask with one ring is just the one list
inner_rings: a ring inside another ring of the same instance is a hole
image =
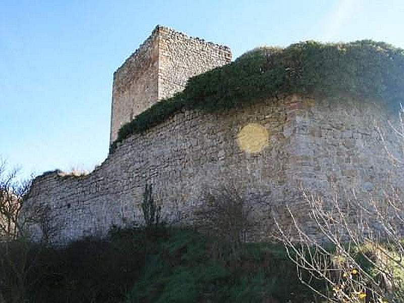
[[22, 175], [108, 154], [113, 72], [157, 24], [223, 43], [370, 38], [404, 48], [403, 0], [0, 0], [0, 157]]

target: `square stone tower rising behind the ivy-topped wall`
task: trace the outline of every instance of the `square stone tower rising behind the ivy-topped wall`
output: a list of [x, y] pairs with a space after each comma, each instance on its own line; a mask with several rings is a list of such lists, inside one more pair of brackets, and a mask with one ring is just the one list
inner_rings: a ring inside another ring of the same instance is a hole
[[158, 25], [114, 73], [110, 144], [122, 125], [183, 90], [190, 77], [230, 61], [229, 47]]

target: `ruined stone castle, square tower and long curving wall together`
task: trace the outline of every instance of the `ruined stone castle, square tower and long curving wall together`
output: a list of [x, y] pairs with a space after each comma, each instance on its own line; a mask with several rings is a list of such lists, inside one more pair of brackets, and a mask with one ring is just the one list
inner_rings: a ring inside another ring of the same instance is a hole
[[[230, 61], [226, 46], [157, 26], [114, 73], [110, 144], [121, 126], [190, 77]], [[349, 94], [281, 95], [222, 113], [181, 110], [123, 140], [89, 175], [38, 176], [26, 205], [51, 206], [58, 226], [52, 240], [66, 243], [141, 223], [146, 183], [165, 220], [192, 224], [204, 190], [231, 182], [257, 206], [250, 237], [265, 240], [272, 214], [282, 219], [286, 204], [305, 216], [301, 188], [329, 196], [343, 187], [360, 196], [402, 182], [380, 144], [387, 128], [383, 110]]]

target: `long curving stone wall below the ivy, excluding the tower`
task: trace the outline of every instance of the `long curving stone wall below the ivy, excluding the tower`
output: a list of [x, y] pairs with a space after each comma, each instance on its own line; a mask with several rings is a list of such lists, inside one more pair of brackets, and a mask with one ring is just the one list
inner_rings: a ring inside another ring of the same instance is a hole
[[50, 224], [58, 228], [51, 240], [67, 243], [106, 236], [114, 225], [143, 224], [145, 184], [153, 184], [170, 224], [194, 224], [204, 190], [234, 184], [254, 208], [249, 239], [270, 240], [274, 214], [289, 226], [286, 206], [317, 235], [302, 188], [325, 200], [343, 192], [368, 199], [404, 182], [386, 154], [398, 157], [400, 150], [389, 119], [377, 104], [346, 96], [268, 98], [215, 114], [182, 111], [124, 140], [88, 175], [38, 176], [24, 205], [51, 206]]

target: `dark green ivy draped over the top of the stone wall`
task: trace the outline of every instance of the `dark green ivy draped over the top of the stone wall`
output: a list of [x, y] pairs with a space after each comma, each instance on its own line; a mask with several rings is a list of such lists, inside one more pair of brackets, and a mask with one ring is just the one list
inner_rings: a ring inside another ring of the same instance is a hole
[[228, 65], [189, 79], [184, 91], [122, 126], [111, 151], [131, 134], [141, 133], [183, 109], [223, 111], [292, 93], [343, 93], [396, 107], [404, 100], [404, 50], [372, 40], [335, 44], [307, 41], [284, 49], [253, 49]]

